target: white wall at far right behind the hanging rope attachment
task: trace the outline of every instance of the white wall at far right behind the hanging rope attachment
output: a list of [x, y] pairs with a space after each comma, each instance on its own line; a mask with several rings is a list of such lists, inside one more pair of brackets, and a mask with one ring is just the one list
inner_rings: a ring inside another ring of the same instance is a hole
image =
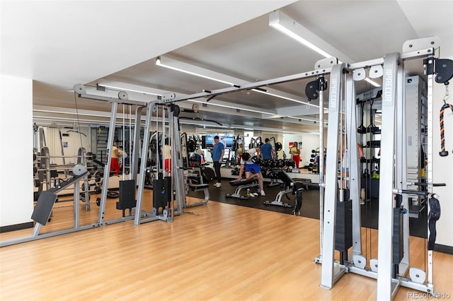
[[[453, 59], [453, 57], [442, 57], [442, 59]], [[453, 81], [450, 81], [453, 83]], [[433, 191], [440, 196], [441, 215], [437, 221], [436, 244], [443, 244], [453, 247], [453, 113], [452, 110], [445, 110], [445, 148], [449, 155], [441, 157], [440, 151], [440, 127], [439, 111], [443, 105], [445, 96], [445, 85], [435, 83], [433, 87], [433, 119], [432, 119], [432, 180], [434, 183], [445, 183], [445, 187], [434, 187]], [[450, 94], [452, 85], [450, 84]], [[453, 104], [453, 98], [447, 100]]]

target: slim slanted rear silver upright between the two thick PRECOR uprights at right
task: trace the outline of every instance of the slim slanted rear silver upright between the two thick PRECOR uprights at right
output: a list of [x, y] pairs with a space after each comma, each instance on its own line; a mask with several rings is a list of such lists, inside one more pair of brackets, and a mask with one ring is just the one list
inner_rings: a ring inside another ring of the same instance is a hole
[[348, 137], [349, 196], [352, 199], [352, 254], [362, 254], [360, 223], [360, 173], [357, 152], [357, 104], [352, 73], [346, 75], [346, 134]]

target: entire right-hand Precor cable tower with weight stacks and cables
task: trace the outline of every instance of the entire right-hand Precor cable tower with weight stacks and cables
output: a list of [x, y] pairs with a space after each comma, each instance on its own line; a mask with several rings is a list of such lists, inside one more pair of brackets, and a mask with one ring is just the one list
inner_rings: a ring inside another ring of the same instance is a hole
[[[321, 255], [314, 260], [322, 264], [322, 288], [333, 288], [334, 283], [345, 273], [357, 273], [377, 279], [377, 300], [391, 300], [400, 286], [432, 296], [438, 295], [433, 283], [432, 251], [435, 223], [440, 218], [440, 201], [432, 189], [445, 184], [432, 182], [432, 86], [435, 76], [436, 83], [444, 83], [448, 88], [448, 81], [453, 76], [452, 61], [435, 57], [438, 47], [438, 37], [408, 40], [403, 45], [402, 53], [386, 54], [380, 59], [354, 64], [335, 64], [331, 69], [328, 82], [326, 179], [320, 188], [321, 191], [325, 190], [324, 200], [320, 200]], [[408, 182], [406, 161], [406, 105], [411, 103], [406, 103], [404, 85], [407, 75], [404, 62], [416, 59], [420, 61], [420, 67], [423, 61], [428, 78], [428, 171], [426, 182], [422, 183]], [[382, 77], [383, 82], [378, 247], [377, 258], [370, 259], [369, 265], [367, 256], [362, 254], [367, 246], [362, 245], [361, 237], [356, 122], [357, 105], [360, 106], [360, 103], [355, 94], [355, 82], [364, 80], [367, 72], [370, 78]], [[441, 112], [448, 107], [452, 108], [445, 102]], [[440, 123], [443, 141], [442, 113]], [[322, 149], [320, 145], [320, 151]], [[348, 151], [344, 152], [345, 149]], [[346, 165], [342, 164], [343, 160], [338, 163], [338, 154], [343, 152]], [[447, 155], [444, 148], [440, 155]], [[323, 160], [320, 160], [320, 165], [322, 163]], [[348, 170], [348, 174], [343, 172], [343, 168]], [[340, 170], [343, 175], [338, 176]], [[409, 185], [415, 185], [416, 189], [408, 189]], [[428, 271], [409, 266], [408, 194], [418, 194], [428, 199]], [[339, 260], [334, 259], [336, 250], [340, 254]]]

